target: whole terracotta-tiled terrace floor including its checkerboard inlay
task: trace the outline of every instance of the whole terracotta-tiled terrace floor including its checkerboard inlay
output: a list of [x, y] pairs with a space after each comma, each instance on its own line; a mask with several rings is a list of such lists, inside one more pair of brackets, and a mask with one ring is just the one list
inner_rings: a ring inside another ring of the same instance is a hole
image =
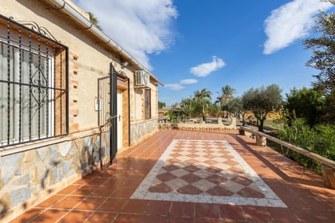
[[335, 190], [253, 139], [161, 130], [13, 222], [335, 222]]

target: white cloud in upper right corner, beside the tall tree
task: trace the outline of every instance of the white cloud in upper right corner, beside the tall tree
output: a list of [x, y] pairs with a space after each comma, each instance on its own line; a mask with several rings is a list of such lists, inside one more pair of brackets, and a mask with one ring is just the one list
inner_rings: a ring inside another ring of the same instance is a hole
[[265, 20], [268, 39], [264, 54], [271, 54], [288, 47], [295, 40], [308, 36], [318, 10], [332, 8], [331, 3], [320, 0], [294, 0], [271, 11]]

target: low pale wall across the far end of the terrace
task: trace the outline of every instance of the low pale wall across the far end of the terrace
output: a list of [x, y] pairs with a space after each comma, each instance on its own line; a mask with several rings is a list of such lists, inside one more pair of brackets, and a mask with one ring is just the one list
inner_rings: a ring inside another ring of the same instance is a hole
[[159, 129], [189, 130], [189, 131], [225, 131], [236, 130], [236, 118], [232, 118], [230, 125], [209, 123], [158, 123]]

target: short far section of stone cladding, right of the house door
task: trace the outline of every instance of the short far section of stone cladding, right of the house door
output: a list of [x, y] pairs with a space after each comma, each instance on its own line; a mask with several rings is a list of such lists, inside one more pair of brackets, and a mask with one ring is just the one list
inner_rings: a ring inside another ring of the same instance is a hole
[[131, 125], [131, 145], [142, 141], [158, 130], [158, 121], [147, 120], [144, 123], [137, 123]]

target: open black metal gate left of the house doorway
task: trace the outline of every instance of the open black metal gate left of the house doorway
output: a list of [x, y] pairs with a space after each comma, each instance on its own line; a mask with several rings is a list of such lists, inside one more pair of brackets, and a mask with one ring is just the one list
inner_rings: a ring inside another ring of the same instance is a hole
[[98, 79], [98, 125], [101, 128], [101, 154], [117, 155], [117, 72], [110, 63], [110, 75]]

